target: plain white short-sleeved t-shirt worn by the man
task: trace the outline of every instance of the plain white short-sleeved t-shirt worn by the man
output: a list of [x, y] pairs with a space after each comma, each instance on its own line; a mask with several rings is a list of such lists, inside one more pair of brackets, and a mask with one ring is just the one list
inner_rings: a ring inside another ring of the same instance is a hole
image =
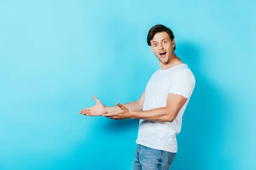
[[195, 77], [186, 64], [157, 70], [145, 88], [143, 111], [166, 106], [169, 93], [187, 98], [173, 122], [140, 120], [137, 144], [168, 152], [177, 152], [176, 135], [180, 133], [182, 116], [195, 87]]

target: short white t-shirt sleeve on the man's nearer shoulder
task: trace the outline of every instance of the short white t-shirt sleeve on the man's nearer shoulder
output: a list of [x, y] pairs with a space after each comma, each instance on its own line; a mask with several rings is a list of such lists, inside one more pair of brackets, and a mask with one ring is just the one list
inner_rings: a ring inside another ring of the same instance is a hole
[[175, 73], [170, 82], [169, 93], [178, 94], [189, 99], [195, 87], [195, 77], [189, 70], [181, 70]]

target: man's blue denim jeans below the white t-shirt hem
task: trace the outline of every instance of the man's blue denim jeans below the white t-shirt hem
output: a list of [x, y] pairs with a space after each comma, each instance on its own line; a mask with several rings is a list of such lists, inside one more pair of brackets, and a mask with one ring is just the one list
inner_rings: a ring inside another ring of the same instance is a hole
[[134, 170], [169, 170], [176, 153], [137, 144]]

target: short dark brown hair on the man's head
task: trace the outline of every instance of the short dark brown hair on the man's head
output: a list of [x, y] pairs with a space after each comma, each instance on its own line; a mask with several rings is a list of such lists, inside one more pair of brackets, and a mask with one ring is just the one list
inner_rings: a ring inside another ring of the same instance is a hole
[[[171, 40], [174, 39], [173, 32], [170, 28], [168, 28], [162, 24], [157, 24], [157, 25], [153, 26], [152, 28], [150, 28], [150, 30], [148, 31], [147, 42], [148, 42], [149, 46], [151, 45], [150, 41], [153, 39], [154, 35], [159, 32], [166, 32], [167, 34], [169, 34]], [[176, 48], [176, 45], [174, 46], [173, 50], [175, 50], [175, 48]]]

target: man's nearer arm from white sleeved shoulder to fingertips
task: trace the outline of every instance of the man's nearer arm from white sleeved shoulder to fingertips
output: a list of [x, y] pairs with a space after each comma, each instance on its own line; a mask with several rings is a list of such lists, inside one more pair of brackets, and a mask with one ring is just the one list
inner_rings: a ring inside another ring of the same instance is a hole
[[175, 75], [168, 96], [166, 106], [147, 111], [130, 111], [124, 105], [116, 103], [121, 110], [114, 113], [103, 114], [110, 119], [144, 119], [161, 122], [173, 122], [192, 94], [195, 87], [195, 77], [191, 71], [181, 70]]

